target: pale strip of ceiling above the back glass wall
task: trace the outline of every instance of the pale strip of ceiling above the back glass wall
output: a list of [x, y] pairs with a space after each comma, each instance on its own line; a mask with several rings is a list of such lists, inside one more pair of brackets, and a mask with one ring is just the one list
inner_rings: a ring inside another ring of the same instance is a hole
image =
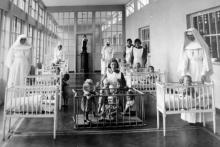
[[88, 5], [122, 5], [130, 0], [42, 0], [46, 7], [52, 6], [88, 6]]

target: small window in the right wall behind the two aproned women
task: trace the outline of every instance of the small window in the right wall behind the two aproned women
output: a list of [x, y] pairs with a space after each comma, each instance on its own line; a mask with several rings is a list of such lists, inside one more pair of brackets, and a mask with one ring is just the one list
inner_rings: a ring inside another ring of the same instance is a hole
[[148, 52], [150, 52], [150, 27], [139, 28], [139, 38], [142, 41], [142, 45], [147, 47]]

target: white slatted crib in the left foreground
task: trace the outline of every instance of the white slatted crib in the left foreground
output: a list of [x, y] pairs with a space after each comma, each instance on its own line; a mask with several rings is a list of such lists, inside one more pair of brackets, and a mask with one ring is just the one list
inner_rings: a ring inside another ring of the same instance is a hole
[[6, 122], [11, 118], [53, 118], [53, 138], [57, 126], [57, 86], [23, 86], [6, 88], [3, 116], [3, 140]]

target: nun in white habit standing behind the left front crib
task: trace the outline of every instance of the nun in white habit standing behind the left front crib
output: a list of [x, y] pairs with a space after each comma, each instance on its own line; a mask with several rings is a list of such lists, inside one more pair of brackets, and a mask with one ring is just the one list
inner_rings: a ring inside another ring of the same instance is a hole
[[5, 65], [9, 68], [8, 87], [25, 85], [31, 68], [31, 45], [25, 34], [19, 35], [8, 51]]

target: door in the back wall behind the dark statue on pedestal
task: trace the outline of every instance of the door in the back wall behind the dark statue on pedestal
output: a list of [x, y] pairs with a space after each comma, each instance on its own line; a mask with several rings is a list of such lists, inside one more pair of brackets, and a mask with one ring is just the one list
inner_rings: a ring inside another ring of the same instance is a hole
[[87, 42], [87, 53], [88, 53], [88, 67], [89, 67], [89, 72], [93, 72], [93, 36], [92, 34], [85, 33], [85, 34], [77, 34], [76, 35], [76, 72], [80, 72], [81, 68], [81, 52], [82, 52], [82, 40], [83, 40], [83, 35], [86, 35], [86, 38], [88, 39]]

